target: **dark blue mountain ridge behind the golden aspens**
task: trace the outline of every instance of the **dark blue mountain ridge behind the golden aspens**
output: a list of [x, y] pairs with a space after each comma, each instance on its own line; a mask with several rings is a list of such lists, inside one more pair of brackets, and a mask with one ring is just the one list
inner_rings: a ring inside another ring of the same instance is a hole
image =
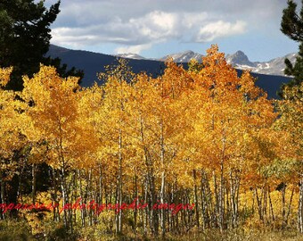
[[[239, 53], [241, 54], [241, 53]], [[62, 63], [66, 63], [69, 68], [76, 67], [79, 70], [85, 72], [85, 77], [82, 80], [83, 87], [91, 87], [94, 82], [102, 84], [97, 79], [97, 72], [104, 71], [104, 66], [114, 64], [117, 61], [117, 56], [109, 54], [98, 54], [83, 50], [70, 50], [60, 46], [50, 46], [50, 49], [46, 56], [53, 58], [61, 58]], [[165, 68], [165, 62], [147, 60], [147, 59], [127, 59], [128, 64], [132, 67], [135, 73], [146, 72], [156, 77], [162, 73]], [[243, 61], [246, 61], [243, 60]], [[187, 62], [181, 62], [184, 68], [187, 68]], [[238, 75], [242, 74], [241, 70], [237, 70]], [[283, 83], [287, 83], [291, 78], [274, 75], [264, 75], [258, 73], [251, 73], [253, 77], [257, 78], [257, 86], [266, 90], [268, 98], [277, 98], [276, 92], [279, 91]]]

